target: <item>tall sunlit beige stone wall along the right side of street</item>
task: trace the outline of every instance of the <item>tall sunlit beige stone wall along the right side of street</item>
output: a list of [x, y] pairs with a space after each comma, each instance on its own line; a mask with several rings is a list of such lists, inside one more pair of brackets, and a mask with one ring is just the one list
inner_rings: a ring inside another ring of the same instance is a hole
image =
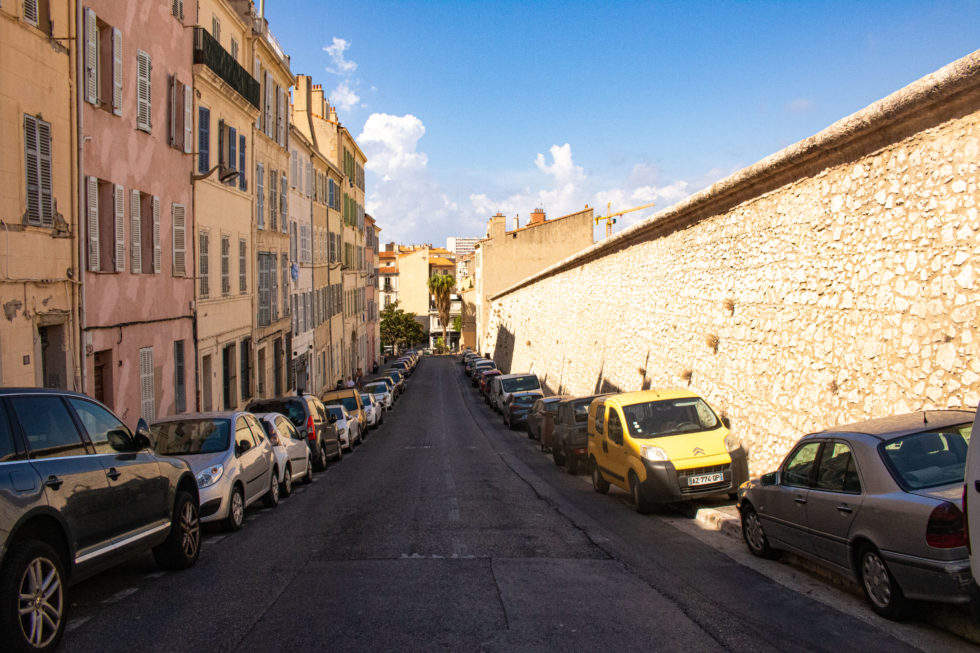
[[980, 401], [980, 52], [491, 298], [551, 392], [689, 386], [753, 473], [803, 434]]

